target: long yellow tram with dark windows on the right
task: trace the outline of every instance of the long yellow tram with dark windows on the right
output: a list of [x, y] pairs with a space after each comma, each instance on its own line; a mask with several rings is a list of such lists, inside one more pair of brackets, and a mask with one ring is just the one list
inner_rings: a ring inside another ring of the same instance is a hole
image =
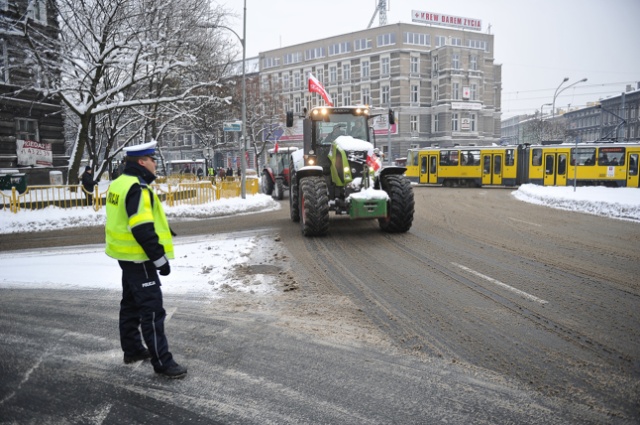
[[442, 186], [639, 187], [639, 159], [637, 143], [423, 148], [407, 153], [406, 176]]

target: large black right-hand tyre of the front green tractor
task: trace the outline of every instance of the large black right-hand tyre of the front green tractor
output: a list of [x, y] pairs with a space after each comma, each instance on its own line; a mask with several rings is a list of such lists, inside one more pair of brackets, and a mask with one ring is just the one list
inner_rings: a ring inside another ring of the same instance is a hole
[[382, 178], [382, 189], [389, 195], [387, 216], [379, 218], [380, 228], [388, 233], [404, 233], [411, 229], [415, 202], [409, 180], [392, 174]]

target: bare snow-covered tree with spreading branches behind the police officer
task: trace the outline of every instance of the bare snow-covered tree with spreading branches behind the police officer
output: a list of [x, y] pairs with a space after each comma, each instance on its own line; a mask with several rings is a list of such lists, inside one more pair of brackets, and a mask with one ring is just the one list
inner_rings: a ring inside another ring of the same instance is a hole
[[171, 122], [200, 108], [192, 102], [220, 102], [205, 90], [217, 81], [197, 72], [203, 40], [194, 32], [198, 20], [223, 13], [220, 9], [211, 11], [204, 0], [58, 0], [56, 5], [60, 37], [30, 42], [42, 87], [77, 119], [69, 183], [77, 183], [85, 147], [93, 161], [102, 156], [104, 170], [117, 154], [112, 148], [119, 136], [127, 142], [158, 138]]

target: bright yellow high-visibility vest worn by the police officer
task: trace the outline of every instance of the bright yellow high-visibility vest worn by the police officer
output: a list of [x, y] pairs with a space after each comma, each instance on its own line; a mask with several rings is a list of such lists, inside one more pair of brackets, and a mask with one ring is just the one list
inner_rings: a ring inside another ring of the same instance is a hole
[[[105, 226], [106, 248], [109, 257], [123, 261], [148, 261], [149, 257], [142, 246], [135, 240], [131, 229], [144, 224], [153, 223], [160, 244], [164, 247], [167, 258], [173, 257], [173, 239], [167, 216], [164, 214], [158, 195], [150, 186], [142, 183], [142, 193], [138, 211], [129, 217], [125, 198], [134, 184], [140, 184], [136, 176], [123, 174], [109, 185], [107, 192], [107, 225]], [[153, 203], [151, 202], [153, 199]]]

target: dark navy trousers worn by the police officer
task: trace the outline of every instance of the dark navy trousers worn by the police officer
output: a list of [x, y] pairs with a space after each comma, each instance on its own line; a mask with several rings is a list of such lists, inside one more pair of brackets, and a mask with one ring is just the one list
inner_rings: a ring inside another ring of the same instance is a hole
[[142, 337], [151, 352], [151, 364], [164, 370], [175, 363], [164, 334], [166, 312], [162, 307], [160, 279], [151, 261], [134, 263], [118, 261], [122, 269], [122, 301], [120, 301], [120, 343], [126, 356], [144, 350]]

